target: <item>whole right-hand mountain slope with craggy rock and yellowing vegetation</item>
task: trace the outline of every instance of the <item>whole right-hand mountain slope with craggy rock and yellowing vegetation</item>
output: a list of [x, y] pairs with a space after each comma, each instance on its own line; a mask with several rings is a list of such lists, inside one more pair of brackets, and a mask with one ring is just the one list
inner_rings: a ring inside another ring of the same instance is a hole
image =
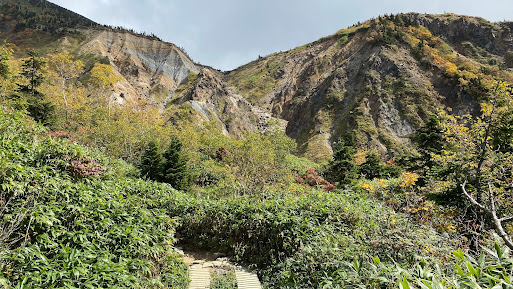
[[[288, 121], [307, 156], [328, 159], [341, 135], [391, 154], [437, 109], [474, 113], [507, 69], [512, 23], [467, 16], [380, 17], [226, 74], [254, 104]], [[426, 29], [422, 25], [432, 27]]]

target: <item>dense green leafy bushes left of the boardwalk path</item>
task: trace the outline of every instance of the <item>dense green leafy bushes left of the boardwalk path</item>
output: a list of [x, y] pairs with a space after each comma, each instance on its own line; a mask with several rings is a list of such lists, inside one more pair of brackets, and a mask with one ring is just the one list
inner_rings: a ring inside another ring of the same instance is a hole
[[44, 131], [0, 111], [0, 284], [186, 288], [161, 203], [177, 192]]

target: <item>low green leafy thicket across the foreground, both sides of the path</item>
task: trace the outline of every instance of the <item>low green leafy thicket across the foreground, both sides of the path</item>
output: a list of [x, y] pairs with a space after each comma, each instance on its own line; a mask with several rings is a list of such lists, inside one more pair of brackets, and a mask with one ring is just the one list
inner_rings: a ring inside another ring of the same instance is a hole
[[23, 113], [2, 109], [0, 117], [6, 288], [186, 288], [175, 231], [258, 269], [269, 288], [461, 288], [511, 278], [509, 251], [498, 245], [479, 261], [451, 257], [456, 228], [411, 195], [409, 174], [353, 190], [299, 182], [211, 199], [212, 191], [137, 179], [132, 166], [56, 138]]

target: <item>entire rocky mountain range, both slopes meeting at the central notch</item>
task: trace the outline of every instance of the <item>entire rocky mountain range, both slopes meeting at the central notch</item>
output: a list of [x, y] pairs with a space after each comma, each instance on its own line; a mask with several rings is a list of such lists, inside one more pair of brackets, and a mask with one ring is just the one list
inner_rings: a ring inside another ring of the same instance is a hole
[[[143, 100], [175, 116], [185, 110], [236, 136], [277, 124], [314, 160], [329, 159], [348, 133], [362, 147], [401, 155], [438, 109], [475, 113], [493, 81], [513, 83], [512, 22], [379, 17], [222, 73], [154, 36], [100, 26], [43, 0], [23, 0], [16, 13], [12, 3], [0, 6], [8, 41], [29, 47], [22, 36], [39, 35], [44, 53], [96, 55], [122, 76], [113, 92], [119, 103]], [[58, 29], [45, 24], [57, 21], [49, 17], [63, 19]]]

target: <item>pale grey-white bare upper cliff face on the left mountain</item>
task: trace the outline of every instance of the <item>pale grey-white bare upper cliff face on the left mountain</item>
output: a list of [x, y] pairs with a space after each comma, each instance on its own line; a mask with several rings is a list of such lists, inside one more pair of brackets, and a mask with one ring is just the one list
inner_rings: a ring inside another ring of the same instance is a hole
[[121, 31], [86, 33], [89, 39], [80, 48], [81, 52], [109, 59], [123, 76], [115, 90], [124, 98], [164, 106], [180, 83], [191, 72], [199, 73], [201, 69], [174, 44]]

